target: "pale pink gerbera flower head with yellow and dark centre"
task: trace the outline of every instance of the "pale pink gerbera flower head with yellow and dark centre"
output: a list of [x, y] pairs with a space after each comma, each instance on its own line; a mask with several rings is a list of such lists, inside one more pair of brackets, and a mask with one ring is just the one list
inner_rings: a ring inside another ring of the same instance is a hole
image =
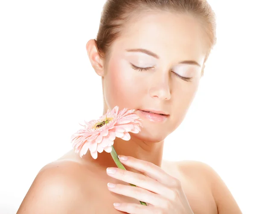
[[74, 151], [82, 157], [89, 149], [91, 156], [96, 159], [98, 152], [102, 153], [104, 150], [110, 153], [112, 151], [116, 137], [130, 140], [131, 136], [128, 132], [137, 134], [142, 126], [140, 117], [134, 111], [134, 109], [128, 110], [127, 108], [119, 111], [116, 106], [98, 120], [85, 122], [85, 125], [80, 124], [84, 128], [71, 136]]

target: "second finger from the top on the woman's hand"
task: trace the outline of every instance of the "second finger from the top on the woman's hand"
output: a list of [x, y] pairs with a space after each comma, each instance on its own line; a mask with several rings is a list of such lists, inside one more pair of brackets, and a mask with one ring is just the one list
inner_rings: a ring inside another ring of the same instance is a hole
[[127, 183], [134, 184], [138, 187], [151, 191], [153, 193], [159, 194], [166, 198], [173, 198], [174, 191], [172, 189], [164, 186], [159, 183], [157, 180], [152, 179], [151, 177], [146, 177], [143, 174], [138, 174], [135, 172], [123, 170], [120, 168], [112, 168], [114, 170], [114, 174], [108, 173], [111, 177], [114, 177], [118, 180], [122, 180]]

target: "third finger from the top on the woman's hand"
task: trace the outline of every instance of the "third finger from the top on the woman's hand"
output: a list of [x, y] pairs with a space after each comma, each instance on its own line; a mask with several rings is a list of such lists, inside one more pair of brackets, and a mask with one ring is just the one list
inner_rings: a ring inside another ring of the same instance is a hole
[[168, 203], [168, 201], [160, 195], [137, 186], [108, 183], [108, 189], [116, 194], [135, 198], [139, 201], [150, 203], [154, 206], [166, 207], [166, 204]]

